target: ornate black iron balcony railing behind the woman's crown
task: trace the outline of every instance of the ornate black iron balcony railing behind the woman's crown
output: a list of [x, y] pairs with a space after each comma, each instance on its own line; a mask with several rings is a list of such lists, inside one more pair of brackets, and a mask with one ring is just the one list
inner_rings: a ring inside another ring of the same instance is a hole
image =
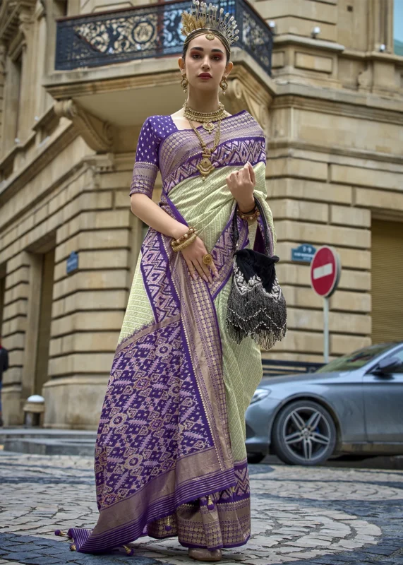
[[[237, 46], [270, 74], [272, 31], [246, 0], [218, 2], [239, 28]], [[104, 66], [181, 53], [181, 13], [191, 2], [169, 1], [57, 21], [55, 69]]]

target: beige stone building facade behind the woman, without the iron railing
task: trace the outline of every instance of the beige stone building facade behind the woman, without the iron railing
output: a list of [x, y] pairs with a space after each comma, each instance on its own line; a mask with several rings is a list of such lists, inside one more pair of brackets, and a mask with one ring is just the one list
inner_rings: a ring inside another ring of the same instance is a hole
[[[183, 93], [176, 55], [55, 70], [64, 49], [56, 18], [85, 27], [87, 15], [132, 6], [0, 6], [6, 424], [22, 422], [32, 393], [46, 399], [47, 427], [97, 424], [144, 235], [128, 198], [136, 139], [148, 115], [176, 111]], [[275, 32], [272, 74], [234, 49], [225, 103], [229, 112], [248, 109], [267, 135], [267, 192], [289, 306], [287, 338], [267, 356], [322, 359], [322, 303], [308, 263], [291, 261], [299, 244], [330, 244], [341, 257], [330, 355], [402, 340], [403, 57], [394, 52], [394, 1], [257, 0], [253, 8]], [[159, 194], [157, 182], [156, 201]], [[78, 268], [68, 274], [72, 251]]]

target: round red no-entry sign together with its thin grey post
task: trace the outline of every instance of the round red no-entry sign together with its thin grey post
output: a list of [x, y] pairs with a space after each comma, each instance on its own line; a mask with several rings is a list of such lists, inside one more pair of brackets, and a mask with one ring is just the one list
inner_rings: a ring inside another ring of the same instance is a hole
[[324, 245], [316, 251], [311, 263], [311, 286], [323, 297], [323, 359], [329, 362], [329, 298], [339, 284], [342, 265], [335, 249]]

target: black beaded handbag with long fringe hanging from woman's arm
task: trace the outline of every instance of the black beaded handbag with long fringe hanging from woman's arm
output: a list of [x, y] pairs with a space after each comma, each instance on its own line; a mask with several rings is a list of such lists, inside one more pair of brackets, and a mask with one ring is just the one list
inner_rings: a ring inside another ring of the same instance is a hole
[[269, 350], [287, 331], [287, 305], [277, 280], [276, 255], [270, 256], [269, 227], [263, 206], [257, 198], [263, 223], [265, 253], [253, 249], [236, 250], [239, 239], [237, 205], [234, 211], [234, 273], [227, 304], [229, 337], [241, 343], [247, 335]]

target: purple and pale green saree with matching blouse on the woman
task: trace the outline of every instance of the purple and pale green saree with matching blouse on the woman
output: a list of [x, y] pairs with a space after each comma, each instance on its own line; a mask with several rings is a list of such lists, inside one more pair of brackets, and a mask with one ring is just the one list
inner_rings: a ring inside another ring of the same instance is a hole
[[[94, 530], [68, 530], [79, 552], [107, 552], [143, 535], [208, 549], [250, 536], [244, 414], [262, 367], [251, 338], [238, 345], [227, 335], [235, 201], [226, 177], [251, 162], [274, 248], [263, 131], [247, 112], [230, 116], [205, 181], [200, 158], [193, 131], [177, 130], [169, 116], [145, 121], [131, 194], [151, 196], [160, 169], [160, 206], [196, 227], [219, 278], [193, 280], [171, 238], [148, 230], [97, 434], [99, 520]], [[241, 247], [260, 251], [261, 223], [239, 219], [238, 227]]]

